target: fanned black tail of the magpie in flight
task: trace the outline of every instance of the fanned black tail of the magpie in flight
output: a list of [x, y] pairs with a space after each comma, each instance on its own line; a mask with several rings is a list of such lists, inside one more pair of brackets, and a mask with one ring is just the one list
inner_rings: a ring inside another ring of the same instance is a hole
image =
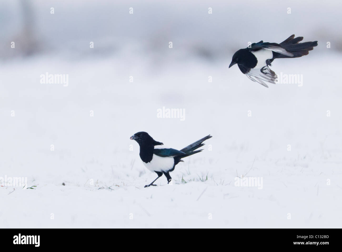
[[309, 51], [313, 50], [315, 46], [317, 46], [317, 41], [313, 42], [303, 42], [299, 43], [299, 41], [302, 41], [303, 37], [297, 37], [294, 38], [294, 34], [282, 41], [279, 45], [286, 49], [288, 52], [291, 52], [293, 56], [286, 56], [283, 54], [280, 54], [278, 52], [273, 52], [273, 58], [298, 58], [302, 57], [304, 55], [308, 55]]

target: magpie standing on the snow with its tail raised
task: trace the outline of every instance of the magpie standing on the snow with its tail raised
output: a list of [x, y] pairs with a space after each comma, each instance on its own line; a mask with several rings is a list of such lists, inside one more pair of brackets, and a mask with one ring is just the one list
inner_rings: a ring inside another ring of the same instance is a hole
[[174, 170], [176, 164], [184, 162], [181, 158], [203, 151], [203, 149], [197, 151], [195, 149], [202, 147], [204, 145], [203, 142], [211, 137], [211, 135], [207, 135], [178, 151], [173, 148], [164, 147], [163, 143], [155, 141], [147, 132], [140, 131], [132, 135], [130, 139], [135, 140], [139, 144], [139, 155], [144, 165], [147, 169], [156, 172], [158, 175], [152, 183], [145, 185], [145, 187], [156, 185], [153, 183], [163, 174], [167, 178], [168, 183], [170, 183], [171, 176], [169, 172]]

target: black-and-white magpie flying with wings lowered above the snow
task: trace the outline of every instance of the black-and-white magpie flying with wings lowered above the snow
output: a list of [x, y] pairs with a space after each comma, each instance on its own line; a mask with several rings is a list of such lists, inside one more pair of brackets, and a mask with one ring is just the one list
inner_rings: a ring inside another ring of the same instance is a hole
[[294, 38], [293, 34], [280, 44], [264, 43], [262, 40], [253, 43], [235, 52], [228, 68], [237, 64], [250, 80], [268, 87], [264, 81], [275, 84], [277, 79], [275, 72], [268, 67], [274, 59], [299, 58], [308, 55], [317, 46], [317, 41], [299, 43], [302, 40], [303, 37]]

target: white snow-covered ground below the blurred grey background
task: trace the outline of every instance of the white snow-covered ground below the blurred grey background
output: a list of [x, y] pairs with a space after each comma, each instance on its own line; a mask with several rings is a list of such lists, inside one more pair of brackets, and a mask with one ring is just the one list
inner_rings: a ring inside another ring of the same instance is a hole
[[[1, 227], [341, 227], [341, 55], [328, 52], [276, 60], [276, 73], [303, 74], [303, 86], [268, 89], [228, 70], [230, 59], [2, 62], [0, 177], [36, 187], [0, 188]], [[69, 74], [69, 85], [40, 84], [46, 71]], [[163, 106], [185, 120], [157, 118]], [[172, 185], [144, 188], [156, 175], [129, 139], [137, 131], [173, 148], [213, 137]], [[262, 178], [262, 189], [236, 187], [236, 176]]]

